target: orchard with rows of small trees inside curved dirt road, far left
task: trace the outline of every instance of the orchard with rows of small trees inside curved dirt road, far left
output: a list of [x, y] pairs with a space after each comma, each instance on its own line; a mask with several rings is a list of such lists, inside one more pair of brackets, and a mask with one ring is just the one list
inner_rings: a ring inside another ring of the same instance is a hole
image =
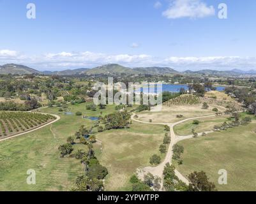
[[0, 112], [0, 139], [38, 128], [55, 119], [49, 114]]

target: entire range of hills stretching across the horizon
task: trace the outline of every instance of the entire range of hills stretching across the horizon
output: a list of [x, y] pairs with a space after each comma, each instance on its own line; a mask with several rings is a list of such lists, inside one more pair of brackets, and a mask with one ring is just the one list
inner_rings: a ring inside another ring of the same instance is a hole
[[211, 69], [203, 69], [200, 71], [187, 70], [183, 72], [176, 71], [169, 67], [145, 67], [145, 68], [127, 68], [119, 64], [106, 64], [96, 68], [87, 69], [66, 69], [64, 71], [38, 71], [27, 66], [20, 64], [4, 64], [0, 66], [0, 74], [11, 75], [27, 75], [27, 74], [40, 74], [40, 75], [215, 75], [215, 76], [240, 76], [240, 75], [256, 75], [256, 70], [243, 71], [241, 69], [232, 69], [230, 71], [218, 71]]

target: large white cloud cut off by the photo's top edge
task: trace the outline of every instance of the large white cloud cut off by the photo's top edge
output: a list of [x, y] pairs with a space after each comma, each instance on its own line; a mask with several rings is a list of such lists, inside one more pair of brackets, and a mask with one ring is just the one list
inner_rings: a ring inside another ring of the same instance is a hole
[[207, 6], [202, 0], [173, 0], [163, 16], [176, 18], [204, 18], [215, 15], [215, 8]]

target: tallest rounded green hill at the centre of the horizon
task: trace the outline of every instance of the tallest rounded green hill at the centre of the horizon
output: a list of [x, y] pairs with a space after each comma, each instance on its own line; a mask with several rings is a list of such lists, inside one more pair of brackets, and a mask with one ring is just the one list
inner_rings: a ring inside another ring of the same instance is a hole
[[87, 71], [84, 71], [84, 73], [86, 75], [136, 75], [139, 74], [139, 71], [126, 68], [119, 64], [106, 64], [93, 69], [88, 69]]

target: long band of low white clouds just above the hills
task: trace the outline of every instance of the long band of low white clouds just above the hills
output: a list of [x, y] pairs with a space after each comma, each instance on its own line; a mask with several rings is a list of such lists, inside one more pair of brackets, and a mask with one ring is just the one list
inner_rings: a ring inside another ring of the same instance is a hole
[[96, 52], [59, 52], [44, 55], [22, 55], [20, 52], [0, 50], [0, 65], [24, 64], [43, 70], [92, 68], [103, 64], [117, 63], [128, 67], [169, 66], [185, 69], [256, 69], [256, 57], [209, 56], [209, 57], [154, 57], [147, 54], [103, 54]]

